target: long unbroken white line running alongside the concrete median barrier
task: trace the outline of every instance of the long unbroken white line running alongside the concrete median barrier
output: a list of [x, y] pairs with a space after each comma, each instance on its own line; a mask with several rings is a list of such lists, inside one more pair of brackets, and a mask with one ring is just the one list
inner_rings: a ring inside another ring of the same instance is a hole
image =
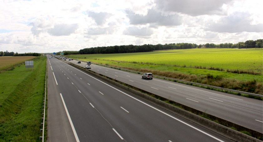
[[[63, 63], [64, 63], [64, 62], [63, 62]], [[66, 64], [66, 63], [64, 63], [64, 64]], [[67, 64], [67, 65], [68, 65], [68, 64]], [[68, 65], [68, 66], [70, 66], [70, 65]], [[73, 67], [73, 68], [75, 68], [75, 67]], [[78, 71], [80, 71], [80, 70], [77, 69], [77, 68], [75, 68], [75, 69], [78, 70]], [[90, 76], [90, 75], [86, 74], [86, 73], [83, 72], [83, 71], [80, 71], [80, 72], [84, 73], [84, 74], [87, 75], [87, 76]], [[197, 131], [199, 131], [199, 132], [201, 132], [201, 133], [203, 133], [203, 134], [205, 134], [205, 135], [207, 135], [207, 136], [209, 136], [209, 137], [211, 137], [211, 138], [213, 138], [213, 139], [216, 139], [216, 140], [218, 140], [218, 141], [220, 141], [220, 142], [224, 142], [223, 140], [218, 139], [218, 138], [216, 138], [216, 137], [214, 137], [214, 136], [212, 136], [212, 135], [210, 135], [210, 134], [208, 134], [208, 133], [206, 133], [206, 132], [204, 132], [204, 131], [202, 131], [202, 130], [200, 130], [200, 129], [198, 129], [198, 128], [195, 128], [194, 126], [192, 126], [192, 125], [190, 125], [190, 124], [187, 124], [187, 123], [183, 122], [182, 120], [180, 120], [180, 119], [178, 119], [178, 118], [175, 118], [175, 117], [173, 117], [172, 115], [170, 115], [170, 114], [168, 114], [168, 113], [162, 112], [161, 110], [159, 110], [159, 109], [157, 109], [157, 108], [154, 108], [154, 107], [152, 107], [151, 105], [149, 105], [149, 104], [147, 104], [147, 103], [144, 103], [144, 102], [142, 102], [141, 100], [139, 100], [139, 99], [137, 99], [137, 98], [135, 98], [135, 97], [132, 97], [131, 95], [126, 94], [125, 92], [122, 92], [121, 90], [119, 90], [119, 89], [117, 89], [117, 88], [114, 88], [114, 87], [112, 87], [111, 85], [109, 85], [109, 84], [107, 84], [107, 83], [105, 83], [105, 82], [102, 82], [102, 81], [100, 81], [99, 79], [97, 79], [97, 78], [95, 78], [95, 77], [93, 77], [93, 76], [90, 76], [90, 77], [94, 78], [95, 80], [97, 80], [97, 81], [99, 81], [99, 82], [101, 82], [101, 83], [103, 83], [103, 84], [105, 84], [105, 85], [107, 85], [107, 86], [109, 86], [109, 87], [111, 87], [111, 88], [113, 88], [113, 89], [115, 89], [115, 90], [117, 90], [117, 91], [119, 91], [119, 92], [121, 92], [121, 93], [123, 93], [123, 94], [125, 94], [125, 95], [127, 95], [127, 96], [129, 96], [129, 97], [131, 97], [131, 98], [133, 98], [133, 99], [135, 99], [135, 100], [137, 100], [138, 102], [141, 102], [141, 103], [147, 105], [147, 106], [150, 107], [150, 108], [153, 108], [153, 109], [159, 111], [160, 113], [163, 113], [163, 114], [165, 114], [165, 115], [167, 115], [167, 116], [169, 116], [169, 117], [171, 117], [171, 118], [173, 118], [173, 119], [175, 119], [175, 120], [177, 120], [177, 121], [179, 121], [179, 122], [181, 122], [181, 123], [183, 123], [183, 124], [185, 124], [185, 125], [193, 128], [193, 129], [195, 129], [195, 130], [197, 130]]]

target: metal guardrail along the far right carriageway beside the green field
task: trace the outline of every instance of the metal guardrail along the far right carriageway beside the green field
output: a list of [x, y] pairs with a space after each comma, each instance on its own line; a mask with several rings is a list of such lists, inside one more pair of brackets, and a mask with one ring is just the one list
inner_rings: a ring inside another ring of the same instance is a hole
[[[139, 71], [132, 71], [132, 70], [128, 70], [128, 69], [118, 68], [118, 67], [114, 67], [114, 66], [102, 65], [102, 64], [97, 64], [97, 63], [92, 63], [92, 64], [99, 65], [99, 66], [106, 66], [106, 67], [110, 67], [110, 68], [116, 68], [116, 69], [119, 69], [119, 70], [125, 70], [125, 71], [140, 73], [140, 74], [143, 73], [143, 72], [139, 72]], [[153, 76], [157, 76], [157, 75], [153, 75]], [[178, 81], [178, 82], [184, 82], [184, 83], [188, 83], [188, 84], [195, 84], [195, 85], [199, 85], [199, 86], [205, 86], [205, 87], [221, 89], [221, 90], [230, 91], [230, 92], [236, 92], [236, 93], [242, 93], [242, 94], [247, 94], [247, 95], [252, 95], [252, 96], [257, 96], [257, 97], [263, 97], [263, 95], [259, 95], [259, 94], [243, 92], [243, 91], [237, 91], [237, 90], [232, 90], [232, 89], [227, 89], [227, 88], [222, 88], [222, 87], [216, 87], [216, 86], [211, 86], [211, 85], [206, 85], [206, 84], [201, 84], [201, 83], [188, 82], [188, 81], [179, 80], [179, 79], [175, 79], [175, 78], [169, 78], [169, 77], [164, 77], [164, 76], [157, 76], [157, 77], [165, 78], [165, 79], [169, 79], [169, 80], [175, 80], [175, 81]]]

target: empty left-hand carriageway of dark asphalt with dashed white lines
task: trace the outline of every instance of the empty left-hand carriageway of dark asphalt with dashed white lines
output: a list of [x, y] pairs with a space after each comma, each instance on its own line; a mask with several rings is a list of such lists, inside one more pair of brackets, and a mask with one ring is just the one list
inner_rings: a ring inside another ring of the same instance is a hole
[[231, 141], [55, 58], [47, 119], [47, 141]]

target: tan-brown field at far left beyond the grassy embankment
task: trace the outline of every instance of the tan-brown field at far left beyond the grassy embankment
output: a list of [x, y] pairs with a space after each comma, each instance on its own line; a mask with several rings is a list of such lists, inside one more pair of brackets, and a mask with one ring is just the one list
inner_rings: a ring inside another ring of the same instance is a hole
[[36, 56], [3, 56], [0, 57], [0, 71], [6, 70], [18, 63], [34, 59]]

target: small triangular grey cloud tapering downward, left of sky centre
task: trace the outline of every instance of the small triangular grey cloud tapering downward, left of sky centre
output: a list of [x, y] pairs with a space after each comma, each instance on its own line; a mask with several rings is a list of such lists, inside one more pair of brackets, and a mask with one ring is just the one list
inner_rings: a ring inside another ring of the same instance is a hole
[[100, 13], [95, 13], [95, 12], [87, 12], [88, 15], [95, 20], [95, 22], [98, 25], [103, 25], [106, 23], [107, 18], [110, 18], [112, 16], [111, 13], [106, 13], [106, 12], [100, 12]]

